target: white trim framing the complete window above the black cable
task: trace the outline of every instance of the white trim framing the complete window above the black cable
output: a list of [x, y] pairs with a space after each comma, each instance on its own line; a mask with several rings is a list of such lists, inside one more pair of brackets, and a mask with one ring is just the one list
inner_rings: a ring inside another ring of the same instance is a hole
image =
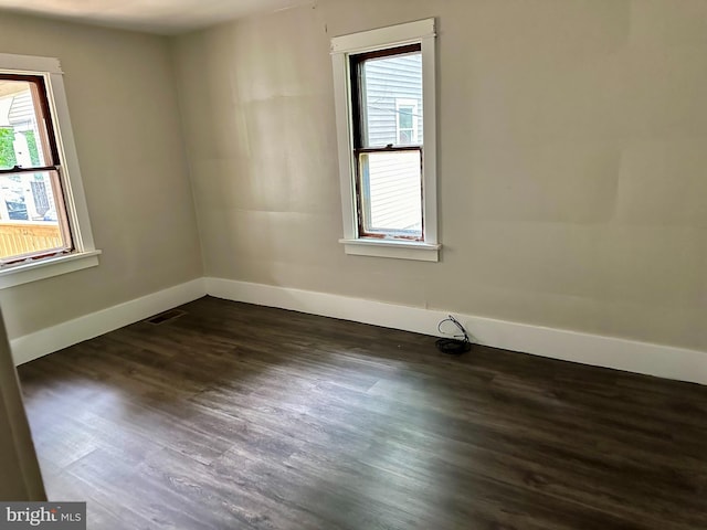
[[[340, 243], [344, 244], [347, 254], [439, 261], [439, 251], [442, 245], [437, 240], [435, 36], [435, 20], [426, 19], [331, 39], [334, 99], [344, 215], [344, 239], [340, 240]], [[358, 223], [356, 222], [356, 163], [352, 157], [354, 131], [350, 120], [349, 56], [356, 53], [414, 43], [420, 43], [422, 46], [424, 242], [359, 237]]]

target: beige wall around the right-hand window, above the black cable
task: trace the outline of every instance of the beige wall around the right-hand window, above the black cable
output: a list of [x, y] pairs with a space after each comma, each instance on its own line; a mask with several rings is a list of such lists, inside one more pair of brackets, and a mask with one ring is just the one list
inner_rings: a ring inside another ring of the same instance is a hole
[[[439, 18], [439, 264], [346, 256], [329, 39]], [[175, 42], [208, 275], [707, 349], [707, 3], [321, 0]]]

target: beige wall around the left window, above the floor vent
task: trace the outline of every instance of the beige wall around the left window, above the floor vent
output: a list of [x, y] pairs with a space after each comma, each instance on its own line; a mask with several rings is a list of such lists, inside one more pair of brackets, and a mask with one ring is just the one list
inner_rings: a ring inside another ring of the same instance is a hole
[[0, 292], [10, 337], [202, 275], [163, 38], [3, 12], [0, 52], [59, 57], [101, 265]]

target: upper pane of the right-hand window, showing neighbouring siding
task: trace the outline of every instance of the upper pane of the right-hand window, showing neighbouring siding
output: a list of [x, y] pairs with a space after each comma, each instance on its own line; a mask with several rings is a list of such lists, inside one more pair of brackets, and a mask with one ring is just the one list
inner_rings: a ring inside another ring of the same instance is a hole
[[370, 59], [361, 70], [363, 147], [399, 145], [400, 129], [414, 129], [409, 137], [421, 145], [422, 53]]

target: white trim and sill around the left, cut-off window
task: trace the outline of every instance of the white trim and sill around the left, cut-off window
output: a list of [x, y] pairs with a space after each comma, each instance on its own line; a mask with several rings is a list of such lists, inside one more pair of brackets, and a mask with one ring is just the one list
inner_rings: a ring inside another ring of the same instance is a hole
[[57, 59], [0, 53], [0, 72], [41, 75], [46, 83], [46, 97], [54, 118], [54, 135], [62, 161], [62, 189], [75, 251], [63, 256], [13, 263], [0, 267], [0, 289], [66, 274], [98, 265], [88, 219], [88, 208], [78, 167], [78, 155], [68, 116], [63, 71]]

